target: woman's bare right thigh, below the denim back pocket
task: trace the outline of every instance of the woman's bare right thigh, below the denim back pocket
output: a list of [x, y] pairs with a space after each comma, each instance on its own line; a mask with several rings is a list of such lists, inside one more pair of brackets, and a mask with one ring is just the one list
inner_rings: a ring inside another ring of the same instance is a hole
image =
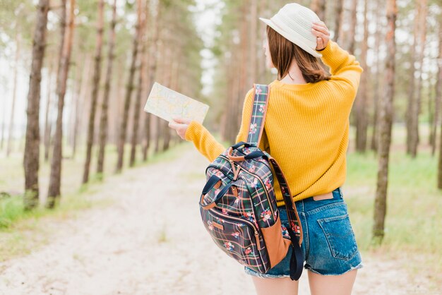
[[309, 271], [311, 295], [350, 295], [356, 275], [357, 270], [343, 275], [318, 275]]

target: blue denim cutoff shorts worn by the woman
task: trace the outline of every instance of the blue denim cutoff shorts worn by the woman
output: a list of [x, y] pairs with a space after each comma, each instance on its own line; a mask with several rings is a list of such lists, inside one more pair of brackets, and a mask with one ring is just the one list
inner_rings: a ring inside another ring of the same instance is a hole
[[[313, 200], [312, 197], [295, 202], [301, 219], [304, 268], [320, 275], [342, 275], [362, 267], [361, 254], [350, 224], [347, 204], [342, 191], [336, 188], [333, 198]], [[289, 227], [285, 205], [278, 207], [281, 224]], [[244, 267], [248, 275], [256, 277], [289, 277], [292, 246], [280, 263], [265, 274]]]

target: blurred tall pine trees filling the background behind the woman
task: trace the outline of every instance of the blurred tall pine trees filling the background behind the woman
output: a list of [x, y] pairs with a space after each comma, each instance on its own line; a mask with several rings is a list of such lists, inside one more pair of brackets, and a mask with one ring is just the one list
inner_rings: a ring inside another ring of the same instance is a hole
[[[88, 183], [179, 143], [167, 121], [143, 112], [155, 81], [210, 104], [204, 125], [233, 143], [246, 92], [276, 78], [265, 68], [258, 17], [289, 2], [0, 0], [0, 169], [8, 169], [8, 158], [24, 157], [18, 179], [25, 183], [19, 189], [0, 182], [0, 192], [26, 191], [28, 209], [48, 197], [53, 207], [77, 162], [79, 182]], [[398, 1], [393, 31], [392, 1], [298, 2], [316, 11], [364, 67], [349, 151], [379, 151], [386, 160], [380, 179], [388, 175], [390, 151], [412, 159], [431, 154], [442, 188], [441, 1]], [[204, 11], [213, 12], [210, 26]], [[383, 137], [388, 121], [382, 125], [390, 107], [401, 140], [391, 145]], [[379, 189], [386, 195], [387, 182]]]

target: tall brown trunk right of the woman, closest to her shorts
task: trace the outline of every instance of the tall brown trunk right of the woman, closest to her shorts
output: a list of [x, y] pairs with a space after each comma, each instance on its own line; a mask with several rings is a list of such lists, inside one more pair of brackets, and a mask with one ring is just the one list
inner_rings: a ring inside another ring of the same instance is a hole
[[386, 35], [386, 93], [381, 99], [379, 121], [378, 180], [374, 202], [373, 240], [382, 243], [387, 211], [388, 158], [390, 156], [393, 97], [395, 94], [395, 21], [398, 10], [395, 0], [387, 1], [388, 32]]

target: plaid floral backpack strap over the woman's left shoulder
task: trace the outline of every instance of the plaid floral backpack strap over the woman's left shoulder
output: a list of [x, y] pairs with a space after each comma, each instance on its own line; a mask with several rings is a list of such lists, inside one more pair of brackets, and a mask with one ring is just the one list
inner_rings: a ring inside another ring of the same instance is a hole
[[253, 110], [250, 119], [249, 136], [247, 143], [259, 146], [264, 130], [265, 114], [267, 114], [268, 94], [270, 88], [265, 84], [253, 84], [255, 97], [253, 99]]

